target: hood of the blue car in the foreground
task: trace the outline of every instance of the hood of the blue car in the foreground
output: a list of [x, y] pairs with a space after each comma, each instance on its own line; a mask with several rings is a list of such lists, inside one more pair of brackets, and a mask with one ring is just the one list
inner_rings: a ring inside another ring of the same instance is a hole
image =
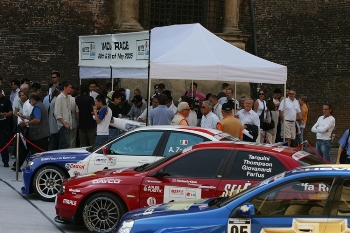
[[[124, 215], [123, 219], [141, 219], [155, 216], [179, 215], [186, 213], [203, 212], [213, 209], [209, 203], [217, 198], [198, 199], [191, 201], [168, 202], [133, 210]], [[215, 207], [216, 208], [216, 207]]]

